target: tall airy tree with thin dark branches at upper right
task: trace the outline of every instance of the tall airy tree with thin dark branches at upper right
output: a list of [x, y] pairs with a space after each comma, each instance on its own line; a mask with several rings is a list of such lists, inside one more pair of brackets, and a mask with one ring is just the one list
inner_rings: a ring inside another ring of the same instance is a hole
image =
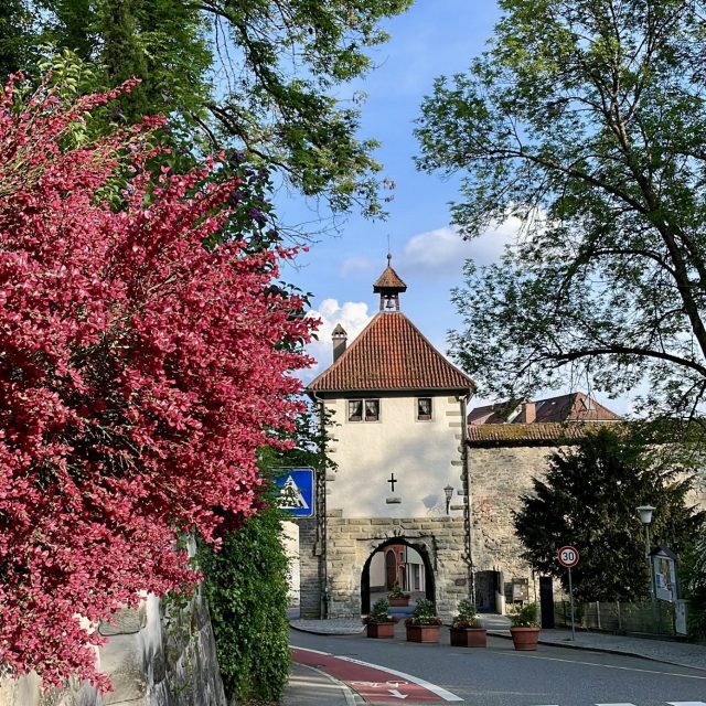
[[706, 395], [703, 3], [500, 6], [418, 128], [419, 167], [462, 174], [464, 237], [524, 226], [501, 264], [467, 265], [457, 357], [502, 394], [589, 365], [612, 393], [646, 377], [689, 414]]

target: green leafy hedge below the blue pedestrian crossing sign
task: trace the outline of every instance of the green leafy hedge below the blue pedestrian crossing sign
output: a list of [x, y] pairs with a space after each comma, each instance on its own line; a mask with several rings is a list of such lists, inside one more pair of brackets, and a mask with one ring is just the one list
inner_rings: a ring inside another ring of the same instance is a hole
[[282, 513], [266, 509], [200, 550], [216, 653], [228, 700], [279, 700], [289, 677], [288, 563]]

